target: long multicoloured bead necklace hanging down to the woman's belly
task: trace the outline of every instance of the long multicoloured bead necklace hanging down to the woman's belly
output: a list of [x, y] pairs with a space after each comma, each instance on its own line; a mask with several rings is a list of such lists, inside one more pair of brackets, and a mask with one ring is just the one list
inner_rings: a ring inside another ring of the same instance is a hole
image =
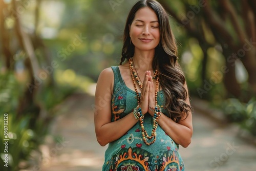
[[[140, 126], [141, 126], [141, 133], [142, 133], [142, 138], [143, 138], [143, 141], [146, 145], [151, 145], [153, 144], [155, 141], [156, 141], [156, 130], [157, 130], [157, 126], [158, 126], [158, 119], [159, 117], [161, 116], [162, 112], [161, 112], [161, 108], [160, 106], [157, 104], [157, 91], [158, 91], [158, 82], [159, 82], [159, 77], [158, 77], [158, 72], [156, 70], [155, 74], [154, 74], [154, 77], [157, 79], [156, 80], [156, 91], [155, 91], [155, 101], [156, 101], [156, 104], [155, 104], [155, 108], [153, 108], [151, 105], [148, 104], [148, 108], [150, 108], [150, 110], [154, 111], [154, 117], [153, 117], [153, 127], [152, 127], [152, 132], [151, 132], [151, 136], [149, 136], [145, 130], [145, 127], [144, 127], [144, 122], [143, 122], [143, 119], [144, 119], [144, 115], [142, 115], [142, 112], [141, 112], [141, 108], [139, 106], [139, 102], [140, 102], [140, 96], [139, 96], [139, 92], [138, 92], [138, 89], [136, 87], [136, 82], [135, 82], [135, 79], [136, 79], [136, 74], [133, 70], [133, 57], [131, 57], [129, 59], [129, 63], [130, 63], [130, 72], [131, 72], [131, 76], [132, 76], [132, 80], [133, 80], [133, 84], [134, 84], [134, 88], [135, 88], [135, 92], [137, 94], [137, 102], [138, 102], [138, 105], [137, 105], [137, 108], [134, 109], [133, 111], [133, 114], [134, 114], [134, 117], [137, 121], [140, 122]], [[138, 83], [138, 81], [137, 81]], [[139, 84], [139, 83], [138, 83]], [[140, 83], [141, 84], [141, 83]], [[140, 86], [139, 84], [139, 86]], [[141, 88], [142, 89], [142, 88]], [[151, 140], [153, 139], [153, 141], [151, 142], [147, 142], [147, 139], [148, 140]]]

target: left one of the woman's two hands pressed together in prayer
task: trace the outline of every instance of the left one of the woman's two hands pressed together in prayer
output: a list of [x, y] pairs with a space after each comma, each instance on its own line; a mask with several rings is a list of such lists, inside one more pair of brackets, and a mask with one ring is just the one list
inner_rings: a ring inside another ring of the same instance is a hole
[[143, 87], [140, 94], [140, 108], [142, 115], [145, 115], [148, 111], [148, 93], [150, 90], [149, 72], [145, 72]]

